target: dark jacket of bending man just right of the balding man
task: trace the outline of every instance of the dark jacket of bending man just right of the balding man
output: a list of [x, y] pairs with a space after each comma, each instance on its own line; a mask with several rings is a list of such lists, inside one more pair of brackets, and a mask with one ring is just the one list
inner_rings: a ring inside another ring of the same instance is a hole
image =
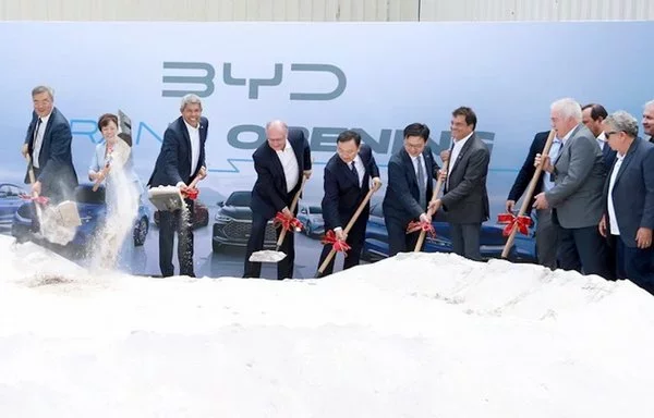
[[[359, 176], [354, 175], [350, 167], [338, 155], [332, 156], [325, 165], [325, 196], [322, 202], [325, 230], [332, 230], [337, 226], [344, 229], [365, 195], [370, 192], [371, 179], [379, 176], [379, 168], [370, 146], [361, 145], [359, 158], [365, 168], [361, 185], [359, 184]], [[359, 216], [359, 220], [365, 222], [368, 214], [370, 202]]]

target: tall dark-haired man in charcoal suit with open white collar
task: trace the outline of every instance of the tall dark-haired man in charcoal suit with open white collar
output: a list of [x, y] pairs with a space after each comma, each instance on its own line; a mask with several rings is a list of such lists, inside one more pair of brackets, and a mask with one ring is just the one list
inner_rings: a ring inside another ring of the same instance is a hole
[[476, 123], [476, 114], [470, 108], [460, 107], [452, 112], [448, 171], [440, 174], [445, 188], [435, 209], [443, 207], [447, 214], [455, 253], [479, 261], [482, 223], [489, 216], [486, 176], [491, 151], [474, 134]]

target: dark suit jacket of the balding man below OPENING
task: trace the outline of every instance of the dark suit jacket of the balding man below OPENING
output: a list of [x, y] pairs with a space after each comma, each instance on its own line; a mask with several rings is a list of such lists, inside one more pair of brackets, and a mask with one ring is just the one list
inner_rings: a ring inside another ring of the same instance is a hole
[[[298, 184], [291, 190], [287, 190], [286, 175], [279, 157], [267, 142], [252, 155], [257, 177], [252, 189], [251, 208], [253, 212], [261, 213], [268, 219], [274, 218], [287, 206], [290, 209], [291, 201], [302, 185], [303, 172], [311, 170], [311, 148], [304, 132], [289, 130], [288, 142], [293, 148], [299, 169]], [[296, 211], [298, 208], [295, 208]]]

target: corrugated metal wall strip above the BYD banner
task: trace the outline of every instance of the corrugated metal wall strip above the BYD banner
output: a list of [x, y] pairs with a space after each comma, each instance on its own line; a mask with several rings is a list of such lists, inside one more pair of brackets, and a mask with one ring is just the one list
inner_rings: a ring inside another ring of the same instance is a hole
[[0, 0], [0, 20], [654, 20], [654, 0]]

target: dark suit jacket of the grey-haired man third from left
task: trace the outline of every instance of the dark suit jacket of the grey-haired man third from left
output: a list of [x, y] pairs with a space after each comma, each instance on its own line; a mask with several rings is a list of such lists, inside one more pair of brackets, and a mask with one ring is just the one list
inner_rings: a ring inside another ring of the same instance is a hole
[[209, 121], [206, 118], [199, 119], [199, 157], [197, 167], [191, 172], [191, 137], [189, 128], [184, 123], [184, 119], [179, 116], [172, 122], [164, 133], [164, 143], [155, 170], [150, 175], [147, 185], [150, 187], [157, 186], [174, 186], [180, 182], [189, 185], [199, 172], [199, 169], [206, 167], [205, 160], [205, 143], [207, 140], [207, 132], [209, 131]]

